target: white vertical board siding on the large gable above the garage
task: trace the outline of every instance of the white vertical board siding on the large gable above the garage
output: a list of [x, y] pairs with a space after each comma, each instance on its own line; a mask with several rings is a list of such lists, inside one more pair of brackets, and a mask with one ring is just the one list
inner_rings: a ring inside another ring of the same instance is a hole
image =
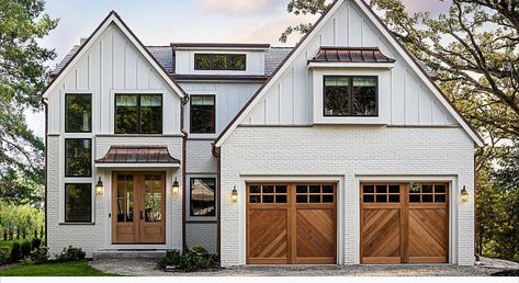
[[312, 38], [293, 64], [281, 75], [256, 107], [242, 120], [249, 125], [308, 125], [313, 124], [312, 71], [307, 60], [320, 46], [379, 47], [394, 59], [390, 70], [391, 103], [388, 125], [455, 125], [441, 102], [414, 73], [404, 57], [384, 38], [362, 10], [352, 1], [345, 1], [330, 20]]

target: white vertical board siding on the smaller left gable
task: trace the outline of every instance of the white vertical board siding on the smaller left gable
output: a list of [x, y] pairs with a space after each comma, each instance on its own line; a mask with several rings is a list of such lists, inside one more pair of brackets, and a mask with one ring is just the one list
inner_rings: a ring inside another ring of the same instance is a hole
[[114, 93], [161, 93], [163, 134], [180, 134], [180, 98], [124, 33], [110, 26], [48, 97], [48, 133], [64, 131], [65, 93], [92, 94], [92, 133], [114, 133]]

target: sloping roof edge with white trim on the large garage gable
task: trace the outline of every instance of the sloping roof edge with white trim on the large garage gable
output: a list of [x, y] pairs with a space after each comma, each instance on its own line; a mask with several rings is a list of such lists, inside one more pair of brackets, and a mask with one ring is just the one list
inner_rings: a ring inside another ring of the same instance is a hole
[[[260, 101], [260, 99], [272, 88], [274, 81], [279, 79], [283, 71], [286, 70], [290, 65], [295, 60], [297, 55], [303, 50], [304, 47], [311, 42], [315, 34], [323, 27], [323, 25], [329, 20], [329, 18], [339, 9], [341, 3], [345, 0], [335, 0], [331, 2], [327, 10], [321, 14], [317, 22], [312, 26], [312, 29], [301, 38], [294, 49], [286, 56], [286, 58], [281, 63], [280, 66], [273, 71], [272, 76], [258, 89], [258, 91], [250, 98], [250, 100], [244, 105], [244, 107], [238, 112], [238, 114], [233, 118], [233, 121], [224, 128], [224, 131], [215, 139], [215, 147], [221, 147], [222, 144], [227, 139], [227, 137], [233, 133], [233, 131], [238, 126], [241, 120], [250, 113], [255, 105]], [[390, 44], [396, 48], [396, 50], [404, 57], [404, 59], [409, 64], [413, 70], [418, 75], [421, 81], [432, 91], [436, 98], [443, 104], [443, 106], [449, 111], [449, 113], [456, 120], [458, 123], [465, 129], [469, 136], [474, 140], [474, 143], [483, 147], [483, 138], [476, 133], [476, 131], [469, 124], [469, 122], [460, 114], [460, 112], [454, 107], [454, 105], [447, 99], [445, 94], [441, 89], [432, 81], [429, 75], [420, 67], [414, 56], [404, 47], [404, 45], [396, 39], [390, 29], [382, 22], [382, 20], [374, 13], [374, 11], [364, 2], [364, 0], [351, 0], [356, 2], [364, 14], [371, 20], [375, 27], [382, 33], [383, 36], [390, 42]]]

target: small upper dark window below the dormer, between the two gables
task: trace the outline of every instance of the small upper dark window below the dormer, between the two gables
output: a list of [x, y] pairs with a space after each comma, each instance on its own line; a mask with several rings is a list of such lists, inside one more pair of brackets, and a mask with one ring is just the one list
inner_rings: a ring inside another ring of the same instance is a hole
[[215, 97], [192, 95], [190, 116], [192, 134], [214, 134], [216, 128]]

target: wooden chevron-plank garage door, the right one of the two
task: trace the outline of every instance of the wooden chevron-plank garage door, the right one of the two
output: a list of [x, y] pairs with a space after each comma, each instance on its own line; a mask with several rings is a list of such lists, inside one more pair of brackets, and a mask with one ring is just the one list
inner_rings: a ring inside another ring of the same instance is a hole
[[449, 261], [447, 183], [363, 183], [361, 263]]

